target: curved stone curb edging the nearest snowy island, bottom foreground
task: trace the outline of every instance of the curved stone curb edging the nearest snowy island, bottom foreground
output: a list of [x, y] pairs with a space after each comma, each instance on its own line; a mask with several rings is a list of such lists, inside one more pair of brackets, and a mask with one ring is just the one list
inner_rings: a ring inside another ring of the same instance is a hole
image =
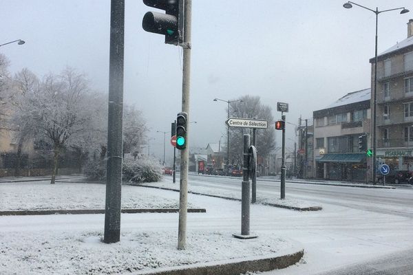
[[238, 275], [246, 272], [267, 272], [281, 270], [295, 265], [304, 256], [304, 250], [299, 250], [282, 256], [267, 257], [264, 259], [237, 259], [230, 263], [207, 263], [188, 267], [169, 267], [158, 272], [139, 272], [139, 275]]

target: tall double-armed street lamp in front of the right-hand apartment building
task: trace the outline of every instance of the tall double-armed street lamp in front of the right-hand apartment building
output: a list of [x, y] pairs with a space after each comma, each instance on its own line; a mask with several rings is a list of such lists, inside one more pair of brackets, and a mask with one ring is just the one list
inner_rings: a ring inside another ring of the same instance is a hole
[[373, 144], [372, 180], [373, 180], [373, 184], [376, 184], [377, 22], [378, 22], [378, 19], [379, 19], [379, 14], [381, 12], [390, 12], [392, 10], [401, 10], [400, 14], [405, 14], [405, 13], [409, 12], [409, 10], [407, 10], [405, 7], [403, 7], [403, 8], [393, 8], [393, 9], [390, 9], [390, 10], [379, 10], [376, 7], [376, 10], [372, 10], [370, 8], [366, 8], [363, 5], [359, 5], [358, 3], [354, 3], [352, 1], [348, 1], [347, 3], [344, 3], [343, 7], [349, 9], [349, 8], [352, 8], [352, 4], [358, 5], [360, 8], [370, 10], [370, 12], [374, 12], [374, 14], [376, 14], [376, 41], [375, 41], [375, 45], [374, 45], [373, 135], [372, 135], [372, 144]]

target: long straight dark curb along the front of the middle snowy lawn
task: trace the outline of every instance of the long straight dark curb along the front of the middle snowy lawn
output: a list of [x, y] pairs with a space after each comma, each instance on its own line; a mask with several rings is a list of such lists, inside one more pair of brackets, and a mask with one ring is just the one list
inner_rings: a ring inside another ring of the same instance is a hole
[[[127, 208], [122, 213], [178, 213], [178, 208]], [[189, 213], [206, 213], [205, 208], [188, 208]], [[26, 216], [46, 214], [105, 214], [105, 209], [56, 209], [56, 210], [10, 210], [0, 211], [0, 216]]]

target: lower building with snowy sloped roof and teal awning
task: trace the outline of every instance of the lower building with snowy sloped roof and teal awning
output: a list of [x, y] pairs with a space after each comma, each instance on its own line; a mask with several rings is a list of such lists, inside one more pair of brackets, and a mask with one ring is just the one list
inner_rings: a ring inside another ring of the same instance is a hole
[[[354, 91], [313, 112], [313, 175], [319, 179], [367, 181], [370, 160], [359, 137], [370, 140], [370, 89]], [[365, 144], [368, 148], [370, 142]]]

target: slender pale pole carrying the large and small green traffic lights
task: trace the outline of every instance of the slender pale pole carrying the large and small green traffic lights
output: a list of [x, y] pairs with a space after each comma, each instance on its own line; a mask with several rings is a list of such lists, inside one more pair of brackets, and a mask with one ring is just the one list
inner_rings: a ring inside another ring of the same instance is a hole
[[[189, 87], [191, 77], [191, 8], [192, 1], [184, 0], [184, 60], [182, 67], [182, 111], [188, 114], [189, 122]], [[181, 150], [180, 159], [180, 195], [178, 250], [184, 250], [187, 243], [187, 208], [188, 208], [188, 159], [189, 159], [189, 124], [187, 123], [187, 148]]]

